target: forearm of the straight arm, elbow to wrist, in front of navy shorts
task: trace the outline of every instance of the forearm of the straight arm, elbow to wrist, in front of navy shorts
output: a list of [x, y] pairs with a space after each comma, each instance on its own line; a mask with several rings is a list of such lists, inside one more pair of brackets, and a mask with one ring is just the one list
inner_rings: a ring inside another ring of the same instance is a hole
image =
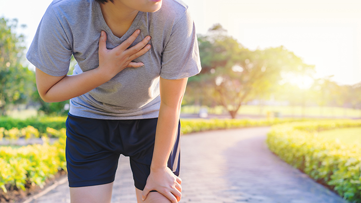
[[164, 170], [175, 142], [178, 130], [180, 105], [167, 106], [161, 103], [151, 170]]

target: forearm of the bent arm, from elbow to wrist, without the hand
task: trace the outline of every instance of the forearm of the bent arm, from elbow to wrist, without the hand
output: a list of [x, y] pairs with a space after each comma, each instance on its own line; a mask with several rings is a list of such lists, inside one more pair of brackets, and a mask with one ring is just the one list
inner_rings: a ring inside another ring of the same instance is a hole
[[39, 93], [46, 102], [60, 102], [80, 96], [109, 80], [109, 77], [99, 73], [99, 68], [95, 68], [81, 74], [65, 76], [47, 92]]

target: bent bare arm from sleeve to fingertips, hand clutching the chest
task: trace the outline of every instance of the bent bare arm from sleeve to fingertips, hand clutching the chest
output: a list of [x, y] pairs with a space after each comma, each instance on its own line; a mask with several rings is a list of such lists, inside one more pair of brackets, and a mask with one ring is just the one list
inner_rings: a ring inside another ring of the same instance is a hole
[[[36, 68], [36, 87], [40, 97], [45, 102], [60, 102], [80, 96], [98, 87], [114, 77], [126, 67], [140, 67], [143, 63], [132, 60], [143, 55], [150, 49], [145, 46], [149, 40], [145, 37], [134, 47], [127, 49], [138, 37], [140, 30], [136, 30], [127, 40], [114, 49], [106, 47], [107, 35], [104, 31], [99, 39], [99, 66], [95, 69], [74, 76], [55, 77]], [[76, 88], [74, 88], [76, 87]]]

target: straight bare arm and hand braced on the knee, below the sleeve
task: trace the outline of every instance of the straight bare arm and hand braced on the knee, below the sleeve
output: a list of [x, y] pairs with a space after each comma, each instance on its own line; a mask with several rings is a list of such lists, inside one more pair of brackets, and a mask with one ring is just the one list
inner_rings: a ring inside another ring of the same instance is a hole
[[182, 195], [181, 179], [167, 167], [167, 161], [177, 134], [180, 108], [187, 81], [188, 78], [179, 80], [160, 79], [161, 108], [150, 175], [142, 193], [143, 199], [146, 198], [149, 191], [157, 190], [172, 203], [180, 201]]

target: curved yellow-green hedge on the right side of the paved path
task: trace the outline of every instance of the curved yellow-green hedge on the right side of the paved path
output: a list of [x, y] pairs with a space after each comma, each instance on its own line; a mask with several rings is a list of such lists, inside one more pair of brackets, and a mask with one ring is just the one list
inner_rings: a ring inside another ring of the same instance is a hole
[[361, 145], [317, 136], [321, 130], [359, 127], [361, 120], [325, 120], [275, 125], [267, 145], [281, 159], [333, 188], [350, 202], [361, 202]]

